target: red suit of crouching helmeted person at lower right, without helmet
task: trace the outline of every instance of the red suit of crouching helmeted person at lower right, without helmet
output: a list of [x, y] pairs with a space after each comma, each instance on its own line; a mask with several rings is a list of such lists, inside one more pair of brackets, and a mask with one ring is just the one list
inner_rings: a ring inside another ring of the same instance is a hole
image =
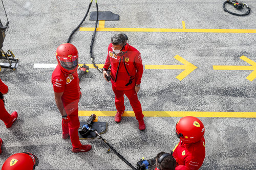
[[[176, 170], [198, 170], [202, 166], [205, 157], [204, 137], [197, 143], [184, 143], [180, 140], [173, 152], [177, 162]], [[186, 167], [181, 167], [181, 165]]]

